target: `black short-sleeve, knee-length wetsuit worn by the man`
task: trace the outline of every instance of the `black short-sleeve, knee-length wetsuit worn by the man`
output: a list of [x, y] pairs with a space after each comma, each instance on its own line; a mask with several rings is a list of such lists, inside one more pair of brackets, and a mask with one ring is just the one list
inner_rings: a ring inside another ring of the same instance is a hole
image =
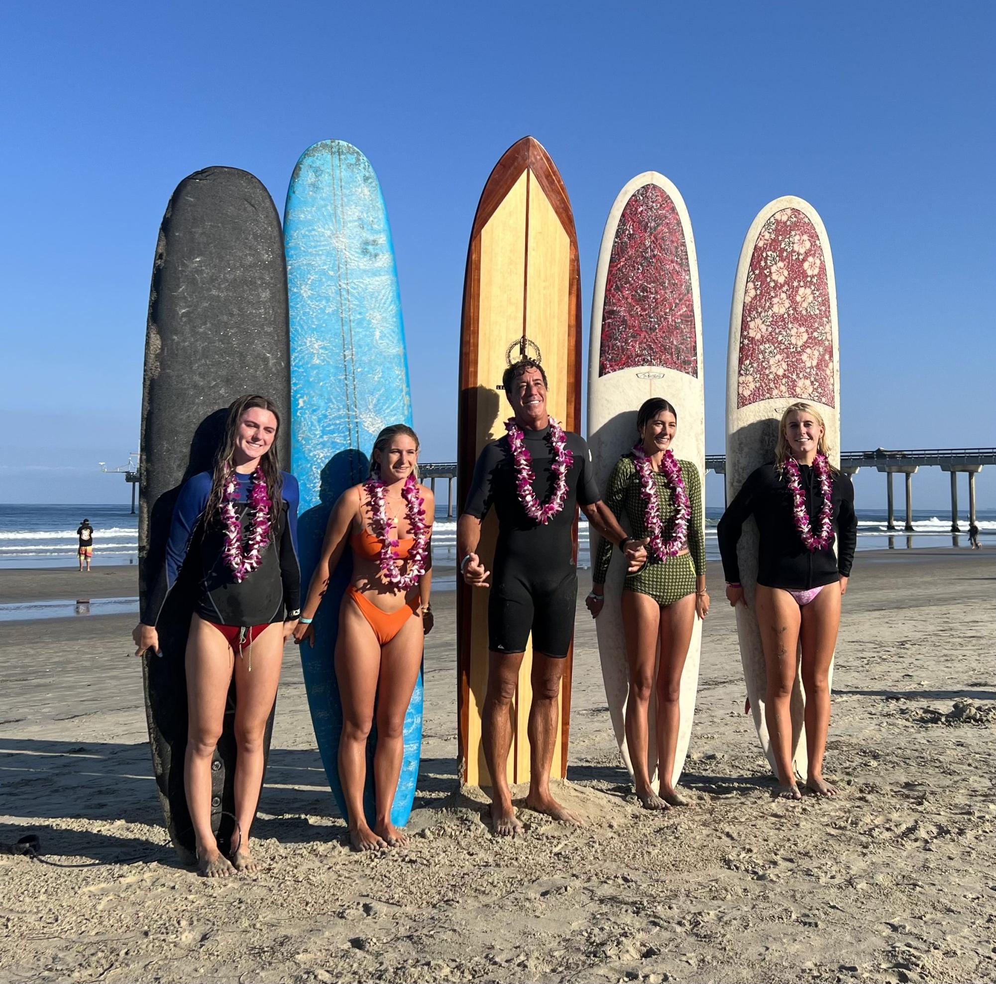
[[[536, 476], [533, 491], [540, 502], [553, 494], [550, 428], [524, 431], [526, 449]], [[572, 530], [578, 504], [600, 499], [592, 454], [580, 434], [567, 431], [571, 468], [564, 508], [547, 524], [526, 515], [516, 492], [515, 461], [508, 437], [487, 444], [477, 459], [474, 480], [463, 511], [483, 519], [493, 505], [498, 516], [498, 542], [488, 600], [489, 646], [494, 652], [523, 652], [530, 632], [533, 649], [548, 656], [566, 656], [574, 636], [578, 573]]]

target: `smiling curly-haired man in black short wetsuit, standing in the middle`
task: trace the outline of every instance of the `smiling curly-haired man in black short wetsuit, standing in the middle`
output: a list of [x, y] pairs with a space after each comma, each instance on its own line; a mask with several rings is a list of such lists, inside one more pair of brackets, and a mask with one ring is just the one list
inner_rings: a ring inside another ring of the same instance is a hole
[[[556, 476], [554, 448], [548, 439], [547, 377], [538, 363], [523, 360], [510, 366], [503, 379], [505, 395], [515, 412], [535, 474], [533, 491], [540, 503], [550, 500]], [[533, 703], [529, 710], [530, 781], [526, 804], [556, 820], [580, 823], [551, 795], [550, 767], [558, 727], [557, 697], [564, 660], [574, 636], [578, 575], [572, 529], [575, 505], [592, 528], [619, 544], [630, 569], [646, 559], [645, 541], [629, 540], [599, 496], [592, 455], [579, 434], [565, 432], [572, 464], [567, 472], [563, 508], [546, 524], [526, 513], [516, 486], [515, 461], [509, 438], [487, 444], [477, 459], [474, 480], [457, 524], [457, 553], [464, 581], [487, 587], [489, 573], [475, 551], [481, 521], [493, 505], [498, 514], [494, 584], [488, 601], [488, 688], [482, 712], [484, 757], [491, 773], [491, 821], [496, 834], [522, 831], [505, 778], [512, 745], [509, 707], [515, 696], [526, 642], [533, 636]]]

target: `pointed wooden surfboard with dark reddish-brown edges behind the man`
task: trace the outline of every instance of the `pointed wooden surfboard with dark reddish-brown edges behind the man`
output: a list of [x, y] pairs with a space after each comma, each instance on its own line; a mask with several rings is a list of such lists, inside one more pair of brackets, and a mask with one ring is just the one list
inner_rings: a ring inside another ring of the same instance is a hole
[[[578, 237], [571, 202], [550, 155], [539, 141], [526, 136], [505, 152], [491, 172], [470, 235], [460, 332], [457, 498], [461, 511], [481, 449], [504, 434], [504, 421], [512, 415], [499, 389], [510, 345], [527, 337], [539, 346], [550, 383], [550, 413], [565, 429], [579, 429], [580, 329]], [[488, 570], [497, 530], [492, 511], [484, 521], [478, 548]], [[464, 781], [477, 786], [491, 785], [481, 746], [488, 594], [488, 589], [469, 588], [457, 578], [460, 756]], [[572, 662], [573, 653], [567, 657], [561, 687], [561, 727], [551, 769], [560, 778], [567, 774]], [[511, 709], [510, 783], [529, 780], [526, 727], [532, 703], [531, 669], [532, 648], [527, 646]]]

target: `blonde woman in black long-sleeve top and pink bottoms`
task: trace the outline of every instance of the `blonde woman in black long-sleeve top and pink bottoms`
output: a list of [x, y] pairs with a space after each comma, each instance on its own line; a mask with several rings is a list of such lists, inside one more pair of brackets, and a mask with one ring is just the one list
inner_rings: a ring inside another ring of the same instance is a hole
[[[823, 778], [830, 727], [830, 663], [841, 623], [841, 598], [858, 543], [855, 490], [831, 467], [826, 428], [811, 403], [793, 403], [778, 429], [774, 464], [747, 477], [719, 521], [719, 551], [730, 605], [746, 604], [737, 542], [748, 516], [760, 534], [755, 609], [767, 672], [765, 723], [783, 794], [801, 798], [792, 768], [790, 701], [802, 637], [806, 689], [806, 786], [835, 796]], [[834, 543], [837, 542], [837, 552]]]

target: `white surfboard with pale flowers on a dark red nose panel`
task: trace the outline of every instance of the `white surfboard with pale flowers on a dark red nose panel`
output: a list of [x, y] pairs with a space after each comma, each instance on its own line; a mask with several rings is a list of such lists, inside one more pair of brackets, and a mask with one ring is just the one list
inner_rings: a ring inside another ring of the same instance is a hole
[[[726, 366], [727, 501], [755, 468], [775, 460], [782, 414], [802, 399], [823, 415], [831, 463], [839, 467], [841, 370], [830, 240], [816, 209], [786, 195], [758, 213], [737, 265]], [[740, 659], [754, 726], [774, 771], [764, 722], [764, 651], [754, 613], [758, 532], [753, 518], [744, 526], [738, 551], [747, 601], [746, 607], [736, 607]], [[831, 683], [833, 673], [831, 663]], [[792, 747], [801, 776], [807, 761], [804, 708], [800, 673], [792, 691]]]

